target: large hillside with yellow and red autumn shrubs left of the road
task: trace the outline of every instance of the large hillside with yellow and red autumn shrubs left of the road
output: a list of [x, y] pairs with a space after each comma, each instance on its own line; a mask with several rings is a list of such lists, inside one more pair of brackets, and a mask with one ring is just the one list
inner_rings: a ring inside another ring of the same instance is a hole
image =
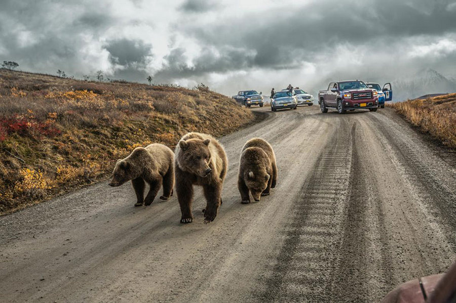
[[137, 146], [173, 148], [187, 132], [222, 136], [252, 120], [207, 90], [0, 69], [0, 213], [105, 178]]

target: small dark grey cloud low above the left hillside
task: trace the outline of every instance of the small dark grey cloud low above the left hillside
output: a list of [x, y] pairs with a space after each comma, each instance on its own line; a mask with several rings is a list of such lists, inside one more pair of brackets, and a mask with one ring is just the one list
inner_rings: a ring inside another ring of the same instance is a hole
[[119, 39], [108, 41], [104, 46], [113, 64], [139, 65], [144, 67], [147, 64], [147, 57], [151, 56], [152, 46], [145, 44], [142, 40]]

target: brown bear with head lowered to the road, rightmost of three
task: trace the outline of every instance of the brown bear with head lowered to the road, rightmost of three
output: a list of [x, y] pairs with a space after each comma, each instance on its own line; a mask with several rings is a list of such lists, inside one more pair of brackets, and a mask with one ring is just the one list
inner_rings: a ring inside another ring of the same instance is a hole
[[250, 203], [249, 191], [253, 199], [259, 201], [260, 196], [269, 195], [276, 183], [276, 155], [271, 144], [259, 138], [250, 139], [242, 148], [239, 162], [241, 203]]

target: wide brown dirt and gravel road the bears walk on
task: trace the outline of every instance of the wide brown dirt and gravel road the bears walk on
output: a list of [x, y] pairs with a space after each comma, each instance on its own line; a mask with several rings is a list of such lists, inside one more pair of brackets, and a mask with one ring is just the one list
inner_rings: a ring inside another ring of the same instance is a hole
[[[378, 302], [456, 261], [456, 159], [390, 109], [268, 114], [220, 138], [223, 205], [179, 224], [177, 198], [134, 207], [107, 182], [0, 218], [2, 302]], [[253, 137], [275, 149], [278, 185], [242, 205]]]

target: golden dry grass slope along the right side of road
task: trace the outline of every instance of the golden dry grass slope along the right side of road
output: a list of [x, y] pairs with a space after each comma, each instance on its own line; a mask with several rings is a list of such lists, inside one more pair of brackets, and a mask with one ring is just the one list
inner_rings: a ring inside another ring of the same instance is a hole
[[456, 94], [408, 100], [394, 103], [392, 107], [422, 131], [456, 148]]

